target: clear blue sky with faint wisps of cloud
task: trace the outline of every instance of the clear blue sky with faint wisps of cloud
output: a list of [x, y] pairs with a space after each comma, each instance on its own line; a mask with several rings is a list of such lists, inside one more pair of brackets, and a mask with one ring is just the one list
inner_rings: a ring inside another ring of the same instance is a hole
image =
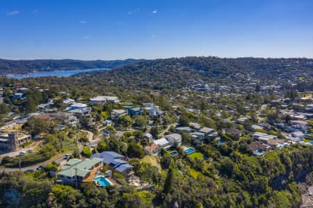
[[0, 1], [0, 58], [313, 58], [312, 0]]

